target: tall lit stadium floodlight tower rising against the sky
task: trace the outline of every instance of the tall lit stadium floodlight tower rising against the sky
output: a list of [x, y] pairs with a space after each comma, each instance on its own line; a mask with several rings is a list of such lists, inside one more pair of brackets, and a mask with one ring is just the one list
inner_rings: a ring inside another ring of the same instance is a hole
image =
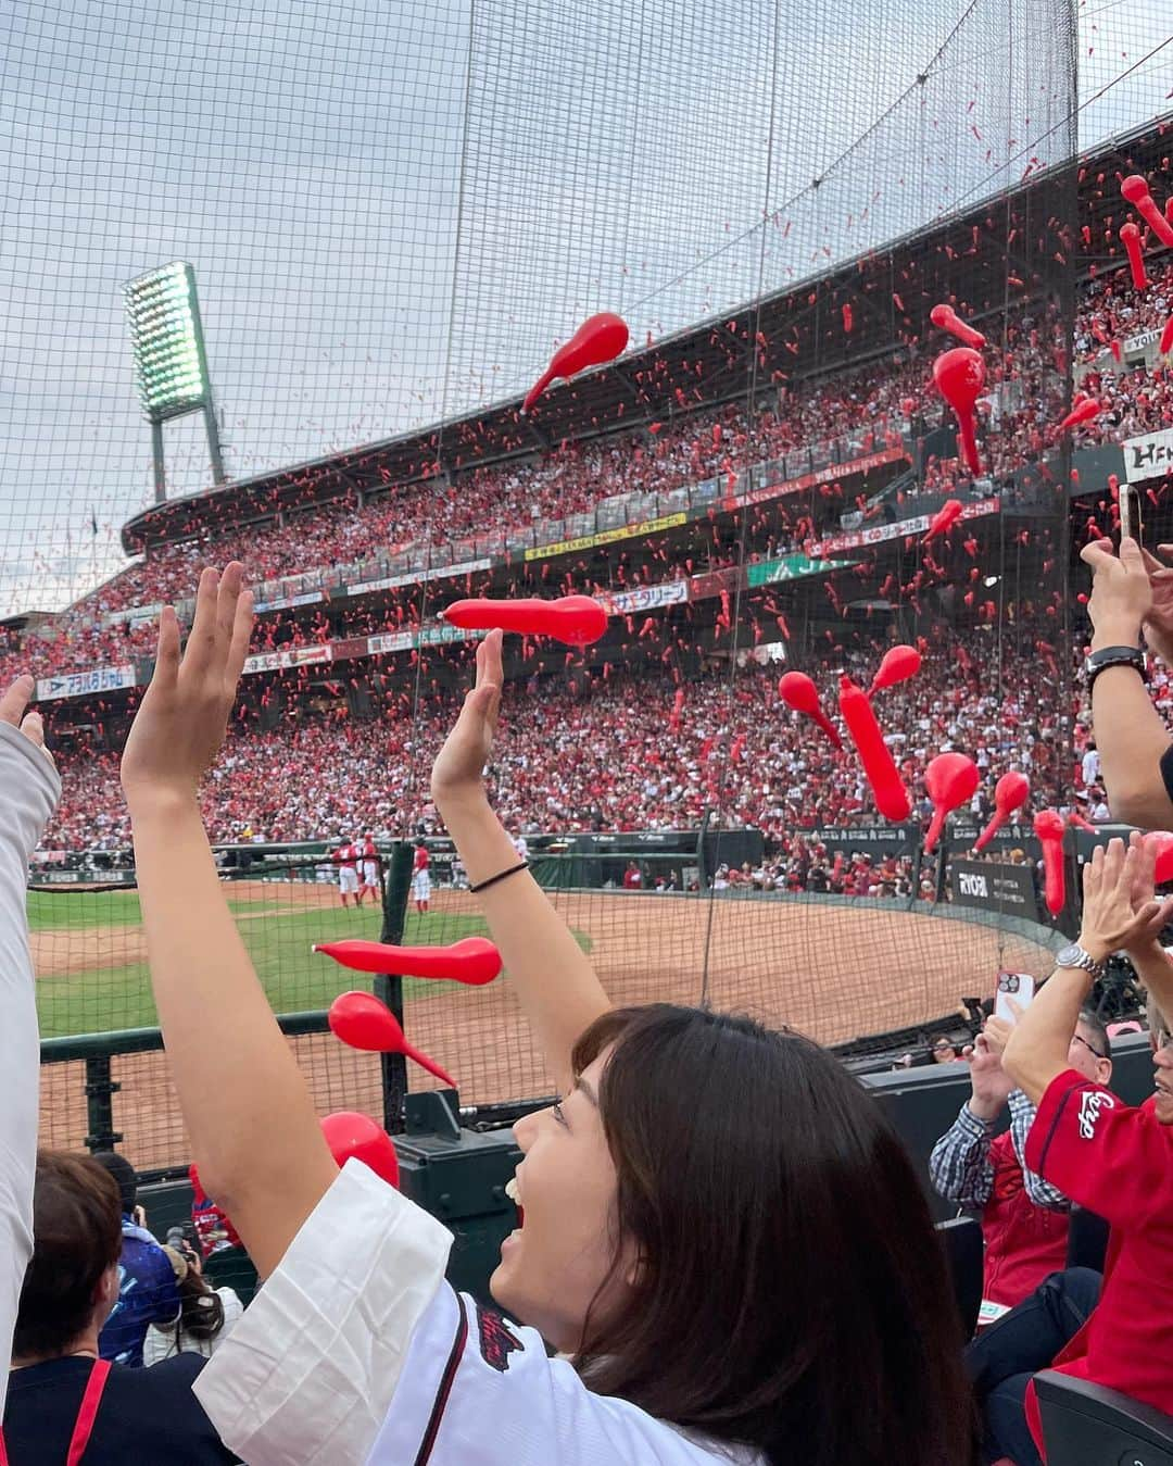
[[163, 424], [189, 412], [202, 412], [208, 430], [212, 479], [224, 482], [220, 431], [212, 408], [212, 384], [204, 350], [195, 270], [183, 261], [148, 270], [123, 286], [135, 381], [142, 410], [151, 424], [155, 463], [155, 500], [167, 497], [163, 459]]

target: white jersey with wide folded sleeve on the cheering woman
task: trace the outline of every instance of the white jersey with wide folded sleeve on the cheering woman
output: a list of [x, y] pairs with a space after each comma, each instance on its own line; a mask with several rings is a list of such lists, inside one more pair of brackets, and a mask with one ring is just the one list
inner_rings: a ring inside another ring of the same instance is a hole
[[249, 1466], [764, 1466], [592, 1394], [444, 1281], [451, 1233], [347, 1161], [193, 1388]]

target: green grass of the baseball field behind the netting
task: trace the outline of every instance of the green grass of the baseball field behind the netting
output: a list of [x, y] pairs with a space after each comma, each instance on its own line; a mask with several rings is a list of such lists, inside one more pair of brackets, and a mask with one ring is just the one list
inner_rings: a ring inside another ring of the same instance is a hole
[[[381, 912], [368, 906], [357, 913], [353, 907], [343, 910], [338, 906], [299, 910], [288, 900], [288, 891], [290, 887], [275, 887], [271, 903], [228, 903], [236, 915], [247, 915], [239, 924], [240, 932], [274, 1010], [305, 1013], [325, 1009], [349, 988], [369, 988], [368, 973], [340, 968], [329, 957], [312, 953], [310, 947], [315, 941], [338, 941], [344, 937], [378, 940]], [[141, 921], [135, 891], [29, 891], [28, 912], [32, 931], [81, 932], [94, 927], [136, 927]], [[425, 946], [485, 934], [486, 928], [479, 916], [450, 912], [417, 916], [410, 912], [403, 940], [409, 946]], [[79, 937], [78, 941], [85, 938]], [[73, 960], [79, 970], [37, 981], [42, 1038], [152, 1028], [158, 1022], [145, 962], [86, 970], [79, 957]], [[414, 997], [436, 997], [447, 985], [409, 978], [404, 987]]]

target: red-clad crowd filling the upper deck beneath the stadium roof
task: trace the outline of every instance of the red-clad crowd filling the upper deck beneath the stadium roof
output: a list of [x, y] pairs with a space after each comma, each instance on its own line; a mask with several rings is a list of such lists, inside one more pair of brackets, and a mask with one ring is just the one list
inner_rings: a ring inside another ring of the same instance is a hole
[[[1091, 281], [1076, 323], [1076, 349], [1084, 390], [1106, 403], [1106, 412], [1081, 430], [1081, 441], [1097, 443], [1150, 431], [1167, 421], [1173, 408], [1173, 374], [1142, 365], [1117, 364], [1109, 343], [1154, 330], [1173, 299], [1173, 265], [1155, 271], [1151, 290], [1138, 296], [1119, 274]], [[1024, 315], [1000, 343], [996, 380], [980, 403], [983, 450], [996, 475], [1037, 460], [1053, 441], [1062, 349], [1051, 312]], [[83, 597], [42, 635], [0, 657], [0, 674], [18, 661], [35, 676], [117, 666], [148, 657], [154, 645], [149, 623], [113, 620], [119, 611], [182, 598], [205, 563], [247, 559], [255, 582], [274, 582], [308, 572], [338, 572], [379, 556], [410, 554], [423, 563], [461, 537], [533, 529], [542, 520], [595, 509], [617, 494], [669, 494], [710, 478], [729, 478], [747, 463], [772, 462], [820, 443], [852, 438], [858, 452], [904, 441], [914, 425], [936, 422], [943, 408], [923, 361], [870, 366], [854, 375], [782, 387], [772, 412], [747, 424], [731, 405], [678, 413], [668, 422], [644, 425], [592, 443], [562, 443], [552, 452], [494, 468], [473, 468], [451, 484], [439, 479], [391, 485], [362, 507], [351, 500], [275, 517], [236, 531], [196, 534], [154, 550], [113, 581]], [[920, 479], [905, 490], [964, 491], [968, 476], [956, 460], [930, 459]], [[851, 504], [838, 503], [838, 510]], [[795, 520], [794, 535], [775, 548], [801, 544], [811, 523]], [[551, 537], [556, 538], [552, 531]], [[429, 544], [431, 541], [431, 544]], [[258, 649], [283, 635], [259, 623]], [[381, 627], [375, 627], [381, 629]], [[10, 638], [12, 641], [12, 638]]]

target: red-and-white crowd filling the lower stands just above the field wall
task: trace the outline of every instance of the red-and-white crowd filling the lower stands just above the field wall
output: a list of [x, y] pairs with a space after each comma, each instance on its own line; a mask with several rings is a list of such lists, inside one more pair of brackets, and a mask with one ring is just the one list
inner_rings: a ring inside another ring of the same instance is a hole
[[[971, 754], [986, 776], [972, 817], [984, 818], [996, 777], [1021, 768], [1037, 805], [1065, 806], [1072, 786], [1085, 790], [1084, 761], [1072, 759], [1057, 690], [1034, 649], [1002, 651], [993, 633], [949, 632], [921, 642], [920, 673], [877, 699], [879, 715], [914, 793], [914, 815], [927, 819], [920, 771], [939, 752]], [[864, 683], [880, 649], [857, 649], [810, 668], [830, 701], [838, 670]], [[775, 862], [770, 880], [792, 887], [823, 880], [822, 858], [807, 831], [874, 821], [871, 798], [854, 754], [791, 712], [778, 696], [778, 663], [747, 660], [690, 677], [681, 688], [668, 671], [624, 671], [584, 679], [537, 676], [505, 689], [502, 732], [494, 751], [494, 798], [511, 827], [535, 831], [694, 828], [706, 811], [728, 825], [760, 828]], [[1029, 692], [1022, 689], [1029, 688]], [[1173, 693], [1163, 680], [1158, 695]], [[239, 727], [204, 790], [214, 840], [294, 841], [350, 839], [372, 830], [403, 837], [436, 818], [422, 771], [451, 721], [453, 701], [388, 702], [369, 720], [288, 708], [262, 733]], [[1073, 710], [1070, 710], [1073, 711]], [[617, 749], [621, 754], [617, 756]], [[1068, 767], [1073, 761], [1075, 767]], [[78, 751], [60, 759], [63, 795], [47, 849], [122, 849], [129, 824], [114, 754]], [[1091, 793], [1095, 792], [1091, 781]], [[1081, 799], [1079, 809], [1088, 805]], [[782, 862], [781, 865], [778, 862]], [[833, 874], [832, 874], [833, 872]], [[846, 883], [883, 894], [905, 893], [905, 869], [827, 863], [827, 888]]]

